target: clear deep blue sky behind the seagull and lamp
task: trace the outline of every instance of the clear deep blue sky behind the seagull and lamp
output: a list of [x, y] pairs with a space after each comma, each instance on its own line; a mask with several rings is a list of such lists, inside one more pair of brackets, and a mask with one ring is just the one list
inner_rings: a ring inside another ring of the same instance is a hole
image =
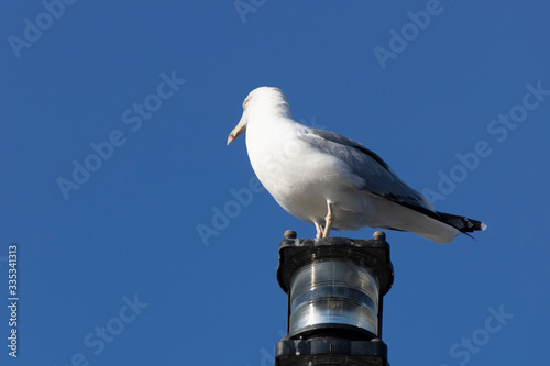
[[448, 245], [387, 232], [392, 365], [547, 362], [549, 11], [3, 2], [0, 296], [9, 304], [16, 243], [20, 300], [16, 361], [0, 311], [1, 364], [273, 364], [286, 326], [278, 243], [315, 230], [256, 185], [244, 138], [226, 146], [265, 85], [296, 120], [378, 153], [440, 211], [488, 224]]

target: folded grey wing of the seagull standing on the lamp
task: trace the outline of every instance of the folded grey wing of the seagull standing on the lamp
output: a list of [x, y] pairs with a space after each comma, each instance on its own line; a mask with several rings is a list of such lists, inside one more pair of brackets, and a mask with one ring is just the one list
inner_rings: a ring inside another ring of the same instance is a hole
[[394, 202], [420, 211], [433, 212], [433, 204], [426, 197], [407, 186], [375, 153], [337, 133], [305, 126], [298, 136], [326, 154], [346, 163], [364, 184], [358, 187]]

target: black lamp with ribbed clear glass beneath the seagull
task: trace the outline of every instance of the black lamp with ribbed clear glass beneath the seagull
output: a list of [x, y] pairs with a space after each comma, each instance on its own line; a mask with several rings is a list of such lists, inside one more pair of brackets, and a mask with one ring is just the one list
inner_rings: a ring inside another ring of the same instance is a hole
[[287, 231], [277, 280], [288, 295], [288, 320], [275, 366], [388, 365], [382, 308], [394, 269], [383, 232], [352, 240]]

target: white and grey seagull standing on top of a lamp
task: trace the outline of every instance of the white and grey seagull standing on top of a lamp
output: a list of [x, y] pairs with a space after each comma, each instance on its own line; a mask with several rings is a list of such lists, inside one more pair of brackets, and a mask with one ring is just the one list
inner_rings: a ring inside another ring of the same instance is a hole
[[288, 213], [315, 225], [316, 237], [331, 230], [364, 226], [407, 231], [436, 243], [485, 230], [466, 217], [436, 211], [375, 153], [337, 133], [293, 120], [278, 88], [254, 89], [228, 145], [246, 131], [252, 168]]

